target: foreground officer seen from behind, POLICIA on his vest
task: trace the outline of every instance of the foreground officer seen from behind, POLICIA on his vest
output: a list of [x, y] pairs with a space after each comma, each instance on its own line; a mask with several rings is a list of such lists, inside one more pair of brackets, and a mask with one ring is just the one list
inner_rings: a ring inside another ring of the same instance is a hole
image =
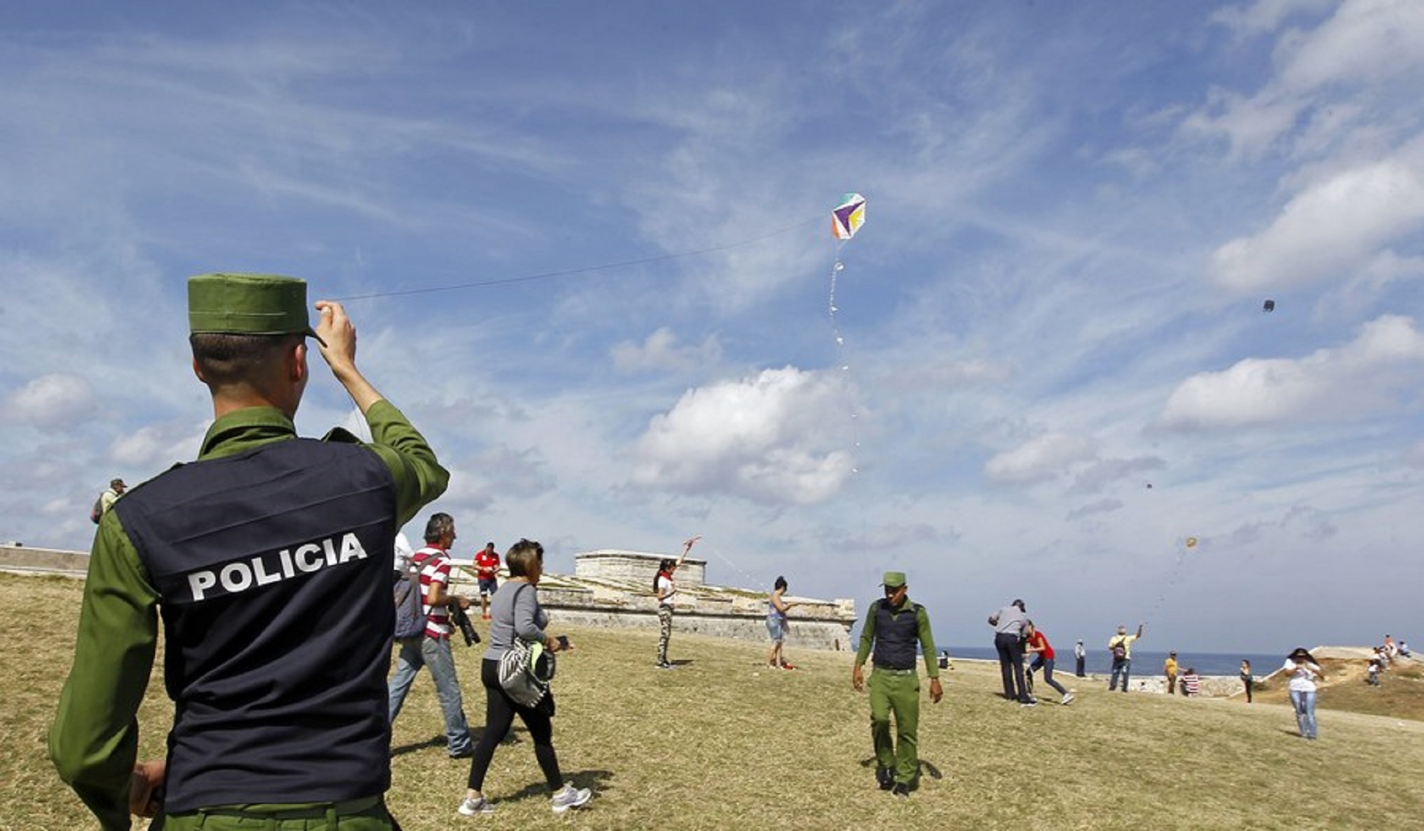
[[[299, 279], [188, 281], [214, 423], [198, 460], [131, 489], [94, 537], [74, 667], [50, 730], [105, 831], [386, 831], [396, 530], [444, 492], [426, 439], [356, 368], [356, 329]], [[365, 415], [299, 439], [308, 338]], [[158, 619], [174, 701], [164, 760], [135, 765]], [[132, 790], [132, 793], [131, 793]]]

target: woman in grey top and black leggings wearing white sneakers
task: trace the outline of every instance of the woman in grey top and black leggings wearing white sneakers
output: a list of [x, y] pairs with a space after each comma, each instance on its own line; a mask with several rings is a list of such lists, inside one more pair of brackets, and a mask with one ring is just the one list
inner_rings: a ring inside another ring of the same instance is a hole
[[534, 758], [544, 771], [544, 781], [548, 783], [553, 797], [550, 807], [555, 814], [562, 814], [570, 808], [578, 808], [592, 798], [588, 788], [575, 788], [564, 783], [558, 770], [558, 757], [554, 754], [554, 691], [544, 694], [538, 704], [524, 707], [510, 698], [500, 684], [500, 659], [511, 646], [514, 639], [543, 643], [547, 651], [555, 653], [570, 649], [567, 639], [557, 639], [544, 631], [548, 626], [548, 613], [538, 604], [538, 579], [544, 573], [544, 546], [533, 540], [520, 540], [504, 554], [504, 564], [510, 569], [510, 579], [504, 587], [494, 594], [490, 603], [490, 649], [480, 661], [480, 681], [484, 684], [486, 710], [484, 731], [474, 745], [474, 760], [470, 763], [470, 790], [466, 791], [464, 801], [460, 802], [460, 812], [466, 817], [490, 814], [494, 805], [484, 798], [484, 774], [490, 770], [494, 758], [494, 748], [510, 731], [517, 714], [524, 727], [534, 738]]

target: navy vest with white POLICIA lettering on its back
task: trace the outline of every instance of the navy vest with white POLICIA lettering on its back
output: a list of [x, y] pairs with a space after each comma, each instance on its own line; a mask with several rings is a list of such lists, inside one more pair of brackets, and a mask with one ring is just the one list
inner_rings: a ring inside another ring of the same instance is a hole
[[380, 458], [276, 442], [174, 468], [114, 509], [162, 596], [165, 808], [383, 794], [396, 489]]

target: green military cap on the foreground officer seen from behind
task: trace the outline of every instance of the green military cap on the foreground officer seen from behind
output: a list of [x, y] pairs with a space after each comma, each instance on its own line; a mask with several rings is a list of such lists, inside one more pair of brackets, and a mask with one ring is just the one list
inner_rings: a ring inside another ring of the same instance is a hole
[[188, 278], [188, 331], [194, 335], [302, 334], [320, 341], [306, 318], [306, 281], [275, 274]]

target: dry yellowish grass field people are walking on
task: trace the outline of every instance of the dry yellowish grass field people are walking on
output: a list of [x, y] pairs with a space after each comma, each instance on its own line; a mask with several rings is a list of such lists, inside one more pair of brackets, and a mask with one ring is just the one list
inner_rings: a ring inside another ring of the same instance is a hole
[[[0, 574], [0, 673], [10, 686], [0, 713], [0, 831], [95, 827], [44, 750], [80, 587]], [[422, 676], [394, 730], [389, 802], [406, 831], [1418, 825], [1410, 797], [1424, 774], [1418, 720], [1321, 710], [1320, 740], [1309, 743], [1294, 735], [1277, 693], [1246, 706], [1109, 696], [1096, 684], [1082, 684], [1068, 707], [1024, 710], [995, 694], [997, 667], [960, 661], [944, 676], [944, 701], [921, 708], [923, 787], [896, 800], [874, 785], [869, 708], [850, 688], [847, 654], [789, 650], [799, 669], [770, 671], [758, 644], [675, 634], [679, 666], [666, 671], [652, 666], [651, 633], [567, 631], [578, 649], [560, 661], [554, 743], [565, 775], [597, 791], [590, 807], [550, 812], [520, 730], [486, 783], [497, 812], [457, 815], [468, 764], [446, 757], [433, 686]], [[457, 646], [456, 654], [478, 730], [480, 651]], [[1418, 713], [1424, 680], [1401, 674], [1377, 691]], [[141, 713], [145, 755], [161, 753], [168, 717], [155, 677]]]

